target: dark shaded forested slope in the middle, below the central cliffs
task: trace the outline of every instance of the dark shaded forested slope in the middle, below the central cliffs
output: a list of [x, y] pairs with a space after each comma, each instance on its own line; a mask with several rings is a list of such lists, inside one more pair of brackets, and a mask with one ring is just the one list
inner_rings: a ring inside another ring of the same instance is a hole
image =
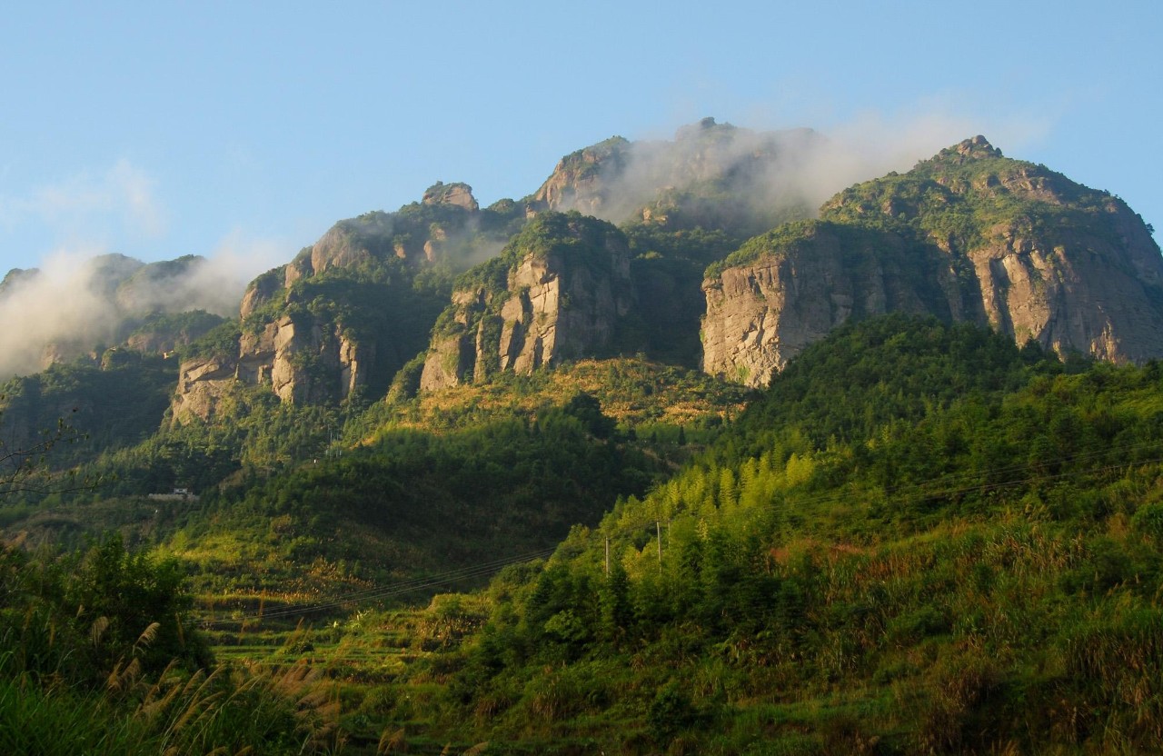
[[197, 565], [202, 592], [316, 599], [335, 579], [384, 585], [543, 551], [662, 470], [576, 394], [533, 420], [391, 430], [266, 480], [252, 471], [162, 548]]

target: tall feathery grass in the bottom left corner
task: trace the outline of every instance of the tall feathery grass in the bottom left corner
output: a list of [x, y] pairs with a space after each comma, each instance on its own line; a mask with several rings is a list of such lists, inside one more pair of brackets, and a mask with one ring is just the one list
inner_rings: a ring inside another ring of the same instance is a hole
[[0, 753], [314, 754], [342, 747], [338, 704], [321, 670], [217, 666], [193, 675], [171, 664], [156, 679], [119, 661], [104, 689], [60, 675], [17, 671], [0, 654]]

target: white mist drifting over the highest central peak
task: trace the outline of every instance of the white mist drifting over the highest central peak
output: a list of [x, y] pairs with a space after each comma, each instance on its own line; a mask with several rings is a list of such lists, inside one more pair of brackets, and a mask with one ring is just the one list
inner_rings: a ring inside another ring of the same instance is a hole
[[619, 223], [668, 211], [692, 213], [695, 222], [705, 222], [699, 200], [729, 198], [720, 207], [750, 215], [758, 226], [749, 230], [766, 230], [764, 223], [814, 216], [836, 192], [890, 171], [907, 171], [973, 134], [989, 130], [1008, 148], [1042, 128], [1021, 119], [983, 123], [939, 114], [894, 120], [870, 114], [828, 133], [761, 131], [707, 117], [679, 128], [672, 140], [613, 137], [566, 156], [535, 199], [552, 209], [577, 209]]

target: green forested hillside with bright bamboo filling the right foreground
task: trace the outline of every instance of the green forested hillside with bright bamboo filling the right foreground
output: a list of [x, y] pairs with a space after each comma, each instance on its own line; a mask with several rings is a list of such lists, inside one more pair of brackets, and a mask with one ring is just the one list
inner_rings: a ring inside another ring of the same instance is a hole
[[442, 726], [607, 753], [1144, 753], [1161, 420], [1155, 363], [842, 328], [683, 472], [499, 577], [434, 662]]

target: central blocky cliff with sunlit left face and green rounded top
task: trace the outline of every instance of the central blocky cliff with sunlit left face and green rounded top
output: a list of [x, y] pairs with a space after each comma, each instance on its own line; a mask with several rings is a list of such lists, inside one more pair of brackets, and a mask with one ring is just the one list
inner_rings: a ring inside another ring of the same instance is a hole
[[420, 388], [602, 355], [615, 348], [633, 306], [622, 234], [577, 213], [541, 214], [499, 257], [457, 283]]

